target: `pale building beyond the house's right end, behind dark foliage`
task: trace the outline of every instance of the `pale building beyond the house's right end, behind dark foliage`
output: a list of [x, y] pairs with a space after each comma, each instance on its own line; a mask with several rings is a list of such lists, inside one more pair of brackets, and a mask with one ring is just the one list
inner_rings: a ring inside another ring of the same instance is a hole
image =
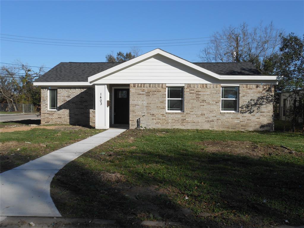
[[[304, 93], [304, 90], [298, 90], [299, 94]], [[295, 100], [295, 91], [290, 91], [290, 92], [282, 92], [280, 93], [280, 99], [279, 99], [279, 119], [285, 120], [286, 115], [288, 114], [288, 111], [290, 111], [290, 108], [293, 107], [294, 105], [294, 100]], [[297, 97], [297, 105], [299, 101], [299, 97]], [[287, 108], [288, 105], [288, 108]], [[287, 120], [290, 120], [290, 116], [287, 118]], [[301, 115], [299, 115], [299, 122], [302, 122]]]

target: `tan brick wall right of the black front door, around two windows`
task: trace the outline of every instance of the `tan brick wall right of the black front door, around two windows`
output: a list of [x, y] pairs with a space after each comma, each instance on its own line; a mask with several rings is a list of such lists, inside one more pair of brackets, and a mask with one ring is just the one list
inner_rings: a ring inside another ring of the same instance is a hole
[[273, 85], [240, 85], [238, 113], [220, 112], [219, 84], [185, 84], [185, 112], [166, 112], [166, 84], [130, 84], [130, 128], [273, 130]]

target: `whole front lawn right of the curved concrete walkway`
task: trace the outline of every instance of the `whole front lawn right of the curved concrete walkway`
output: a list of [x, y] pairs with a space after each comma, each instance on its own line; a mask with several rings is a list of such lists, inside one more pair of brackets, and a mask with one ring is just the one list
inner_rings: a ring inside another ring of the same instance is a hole
[[301, 133], [127, 130], [60, 170], [51, 196], [62, 216], [124, 226], [303, 225], [303, 151]]

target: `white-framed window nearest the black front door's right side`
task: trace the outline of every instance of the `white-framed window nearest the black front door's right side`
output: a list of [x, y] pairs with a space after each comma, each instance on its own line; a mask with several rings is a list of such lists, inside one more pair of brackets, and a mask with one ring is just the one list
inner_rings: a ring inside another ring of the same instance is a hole
[[167, 111], [184, 111], [184, 87], [167, 87]]

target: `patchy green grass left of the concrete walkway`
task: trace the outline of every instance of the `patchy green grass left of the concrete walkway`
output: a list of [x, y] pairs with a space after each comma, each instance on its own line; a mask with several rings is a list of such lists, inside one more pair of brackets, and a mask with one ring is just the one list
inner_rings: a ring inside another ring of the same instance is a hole
[[0, 139], [2, 143], [1, 172], [102, 131], [85, 127], [62, 126], [60, 129], [36, 128], [27, 131], [3, 132]]

